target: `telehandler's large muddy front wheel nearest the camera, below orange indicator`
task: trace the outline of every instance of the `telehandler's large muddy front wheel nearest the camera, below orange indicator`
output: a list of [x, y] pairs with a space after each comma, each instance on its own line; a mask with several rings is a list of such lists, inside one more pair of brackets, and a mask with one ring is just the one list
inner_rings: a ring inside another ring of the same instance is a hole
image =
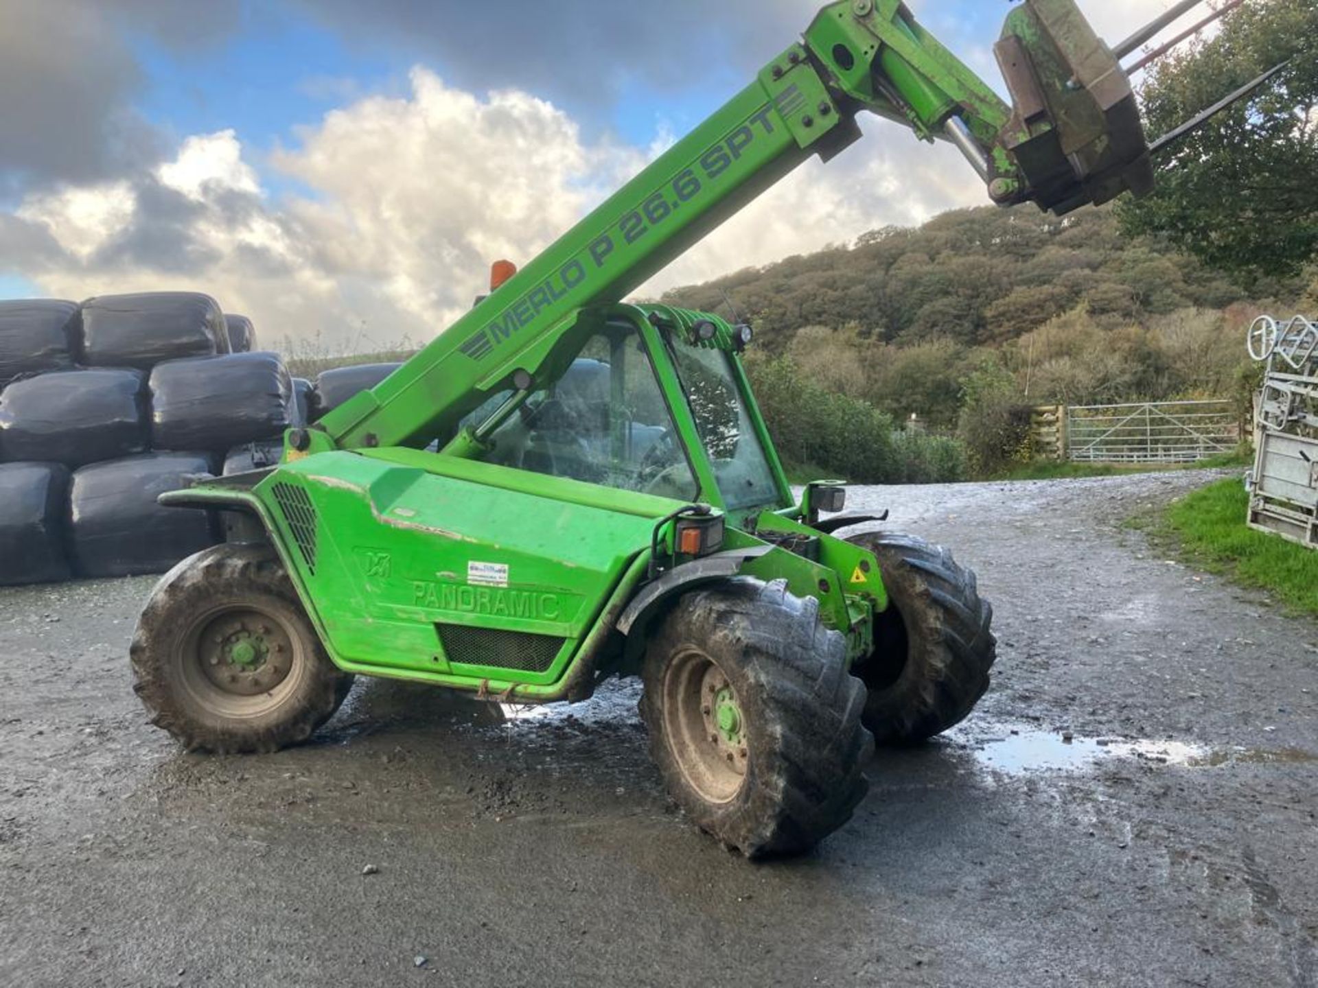
[[651, 638], [641, 715], [675, 802], [747, 858], [800, 854], [865, 797], [865, 686], [818, 602], [737, 578], [683, 597]]

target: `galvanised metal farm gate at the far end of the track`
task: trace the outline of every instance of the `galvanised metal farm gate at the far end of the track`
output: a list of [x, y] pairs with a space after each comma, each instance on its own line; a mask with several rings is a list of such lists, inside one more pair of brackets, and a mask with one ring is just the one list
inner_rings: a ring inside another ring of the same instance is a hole
[[1066, 458], [1103, 464], [1193, 464], [1232, 452], [1231, 402], [1143, 402], [1066, 410]]

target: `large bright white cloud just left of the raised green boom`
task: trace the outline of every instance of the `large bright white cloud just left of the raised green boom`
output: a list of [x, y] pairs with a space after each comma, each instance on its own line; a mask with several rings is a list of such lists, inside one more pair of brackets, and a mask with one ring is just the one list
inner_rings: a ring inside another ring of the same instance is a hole
[[489, 263], [534, 257], [602, 198], [637, 151], [588, 145], [544, 100], [478, 99], [432, 72], [407, 97], [369, 97], [274, 155], [319, 194], [287, 209], [330, 274], [368, 278], [431, 328], [481, 290]]

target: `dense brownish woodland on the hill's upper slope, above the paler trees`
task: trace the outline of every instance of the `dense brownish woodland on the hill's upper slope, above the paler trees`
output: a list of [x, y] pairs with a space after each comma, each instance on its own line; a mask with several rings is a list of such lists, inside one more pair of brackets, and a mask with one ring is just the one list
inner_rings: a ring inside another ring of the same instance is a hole
[[[1251, 294], [1296, 298], [1302, 287], [1301, 279], [1263, 279]], [[850, 246], [679, 288], [664, 300], [708, 310], [725, 306], [725, 292], [771, 349], [808, 325], [904, 345], [991, 345], [1081, 303], [1095, 317], [1140, 321], [1224, 308], [1247, 295], [1238, 281], [1170, 248], [1123, 238], [1111, 209], [1057, 219], [1032, 206], [958, 209], [915, 229], [888, 227]]]

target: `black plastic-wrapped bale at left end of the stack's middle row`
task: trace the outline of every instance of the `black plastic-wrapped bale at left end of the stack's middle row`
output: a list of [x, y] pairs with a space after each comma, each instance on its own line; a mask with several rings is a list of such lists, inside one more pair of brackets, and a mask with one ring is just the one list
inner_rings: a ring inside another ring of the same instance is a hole
[[76, 468], [146, 449], [138, 370], [57, 370], [0, 391], [0, 456]]

